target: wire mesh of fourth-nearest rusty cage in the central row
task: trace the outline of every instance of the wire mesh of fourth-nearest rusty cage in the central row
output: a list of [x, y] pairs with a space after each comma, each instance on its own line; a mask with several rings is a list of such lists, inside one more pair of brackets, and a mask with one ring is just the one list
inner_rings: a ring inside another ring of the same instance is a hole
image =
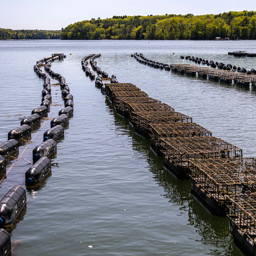
[[156, 142], [165, 137], [212, 136], [212, 133], [197, 123], [152, 123], [149, 126], [150, 137]]

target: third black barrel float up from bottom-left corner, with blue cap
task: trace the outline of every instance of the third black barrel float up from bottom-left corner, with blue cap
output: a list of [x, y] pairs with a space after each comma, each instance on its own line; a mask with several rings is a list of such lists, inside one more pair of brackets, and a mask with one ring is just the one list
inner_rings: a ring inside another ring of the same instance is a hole
[[26, 185], [32, 186], [36, 183], [39, 183], [49, 174], [51, 169], [51, 160], [48, 157], [41, 157], [26, 171]]

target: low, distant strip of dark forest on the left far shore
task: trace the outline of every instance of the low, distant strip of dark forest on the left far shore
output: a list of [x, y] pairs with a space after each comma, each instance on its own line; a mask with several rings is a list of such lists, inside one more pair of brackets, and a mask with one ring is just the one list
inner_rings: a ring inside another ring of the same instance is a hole
[[61, 30], [12, 30], [0, 28], [0, 40], [60, 39]]

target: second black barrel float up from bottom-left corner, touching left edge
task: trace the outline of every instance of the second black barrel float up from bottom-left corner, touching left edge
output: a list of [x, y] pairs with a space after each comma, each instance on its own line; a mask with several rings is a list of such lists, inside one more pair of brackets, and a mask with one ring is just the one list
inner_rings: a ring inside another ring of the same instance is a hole
[[0, 201], [0, 226], [12, 224], [25, 204], [25, 189], [21, 186], [13, 186]]

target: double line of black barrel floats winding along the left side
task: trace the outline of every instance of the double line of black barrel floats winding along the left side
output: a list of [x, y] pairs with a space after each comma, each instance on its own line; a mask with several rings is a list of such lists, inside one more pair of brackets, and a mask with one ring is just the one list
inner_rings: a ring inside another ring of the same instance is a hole
[[[31, 131], [41, 125], [41, 118], [43, 119], [44, 116], [48, 115], [52, 96], [50, 78], [47, 73], [51, 75], [53, 79], [58, 79], [62, 98], [64, 99], [64, 108], [59, 111], [57, 117], [52, 118], [51, 128], [43, 135], [44, 142], [36, 146], [32, 151], [33, 165], [25, 174], [25, 184], [28, 188], [40, 185], [44, 178], [51, 172], [52, 162], [49, 157], [56, 152], [57, 140], [64, 135], [64, 127], [69, 123], [69, 117], [73, 115], [73, 95], [70, 94], [66, 80], [61, 74], [51, 70], [52, 61], [61, 60], [63, 58], [66, 58], [66, 55], [53, 54], [51, 57], [46, 57], [36, 62], [34, 71], [38, 77], [44, 79], [41, 105], [33, 109], [30, 116], [23, 118], [20, 122], [21, 126], [10, 131], [8, 133], [8, 141], [0, 145], [0, 175], [4, 178], [13, 167], [12, 165], [6, 173], [6, 160], [18, 152], [19, 143], [24, 138], [30, 137]], [[44, 66], [44, 70], [47, 73], [42, 72], [42, 66]], [[44, 125], [42, 125], [42, 127], [43, 126]], [[37, 134], [38, 132], [36, 135]], [[20, 158], [20, 156], [17, 158]], [[2, 180], [0, 180], [0, 182]], [[23, 211], [25, 206], [26, 191], [21, 186], [12, 187], [0, 201], [0, 227], [3, 227], [0, 229], [0, 250], [3, 256], [8, 255], [11, 251], [11, 238], [6, 229], [10, 227], [14, 221], [17, 221], [20, 212]]]

